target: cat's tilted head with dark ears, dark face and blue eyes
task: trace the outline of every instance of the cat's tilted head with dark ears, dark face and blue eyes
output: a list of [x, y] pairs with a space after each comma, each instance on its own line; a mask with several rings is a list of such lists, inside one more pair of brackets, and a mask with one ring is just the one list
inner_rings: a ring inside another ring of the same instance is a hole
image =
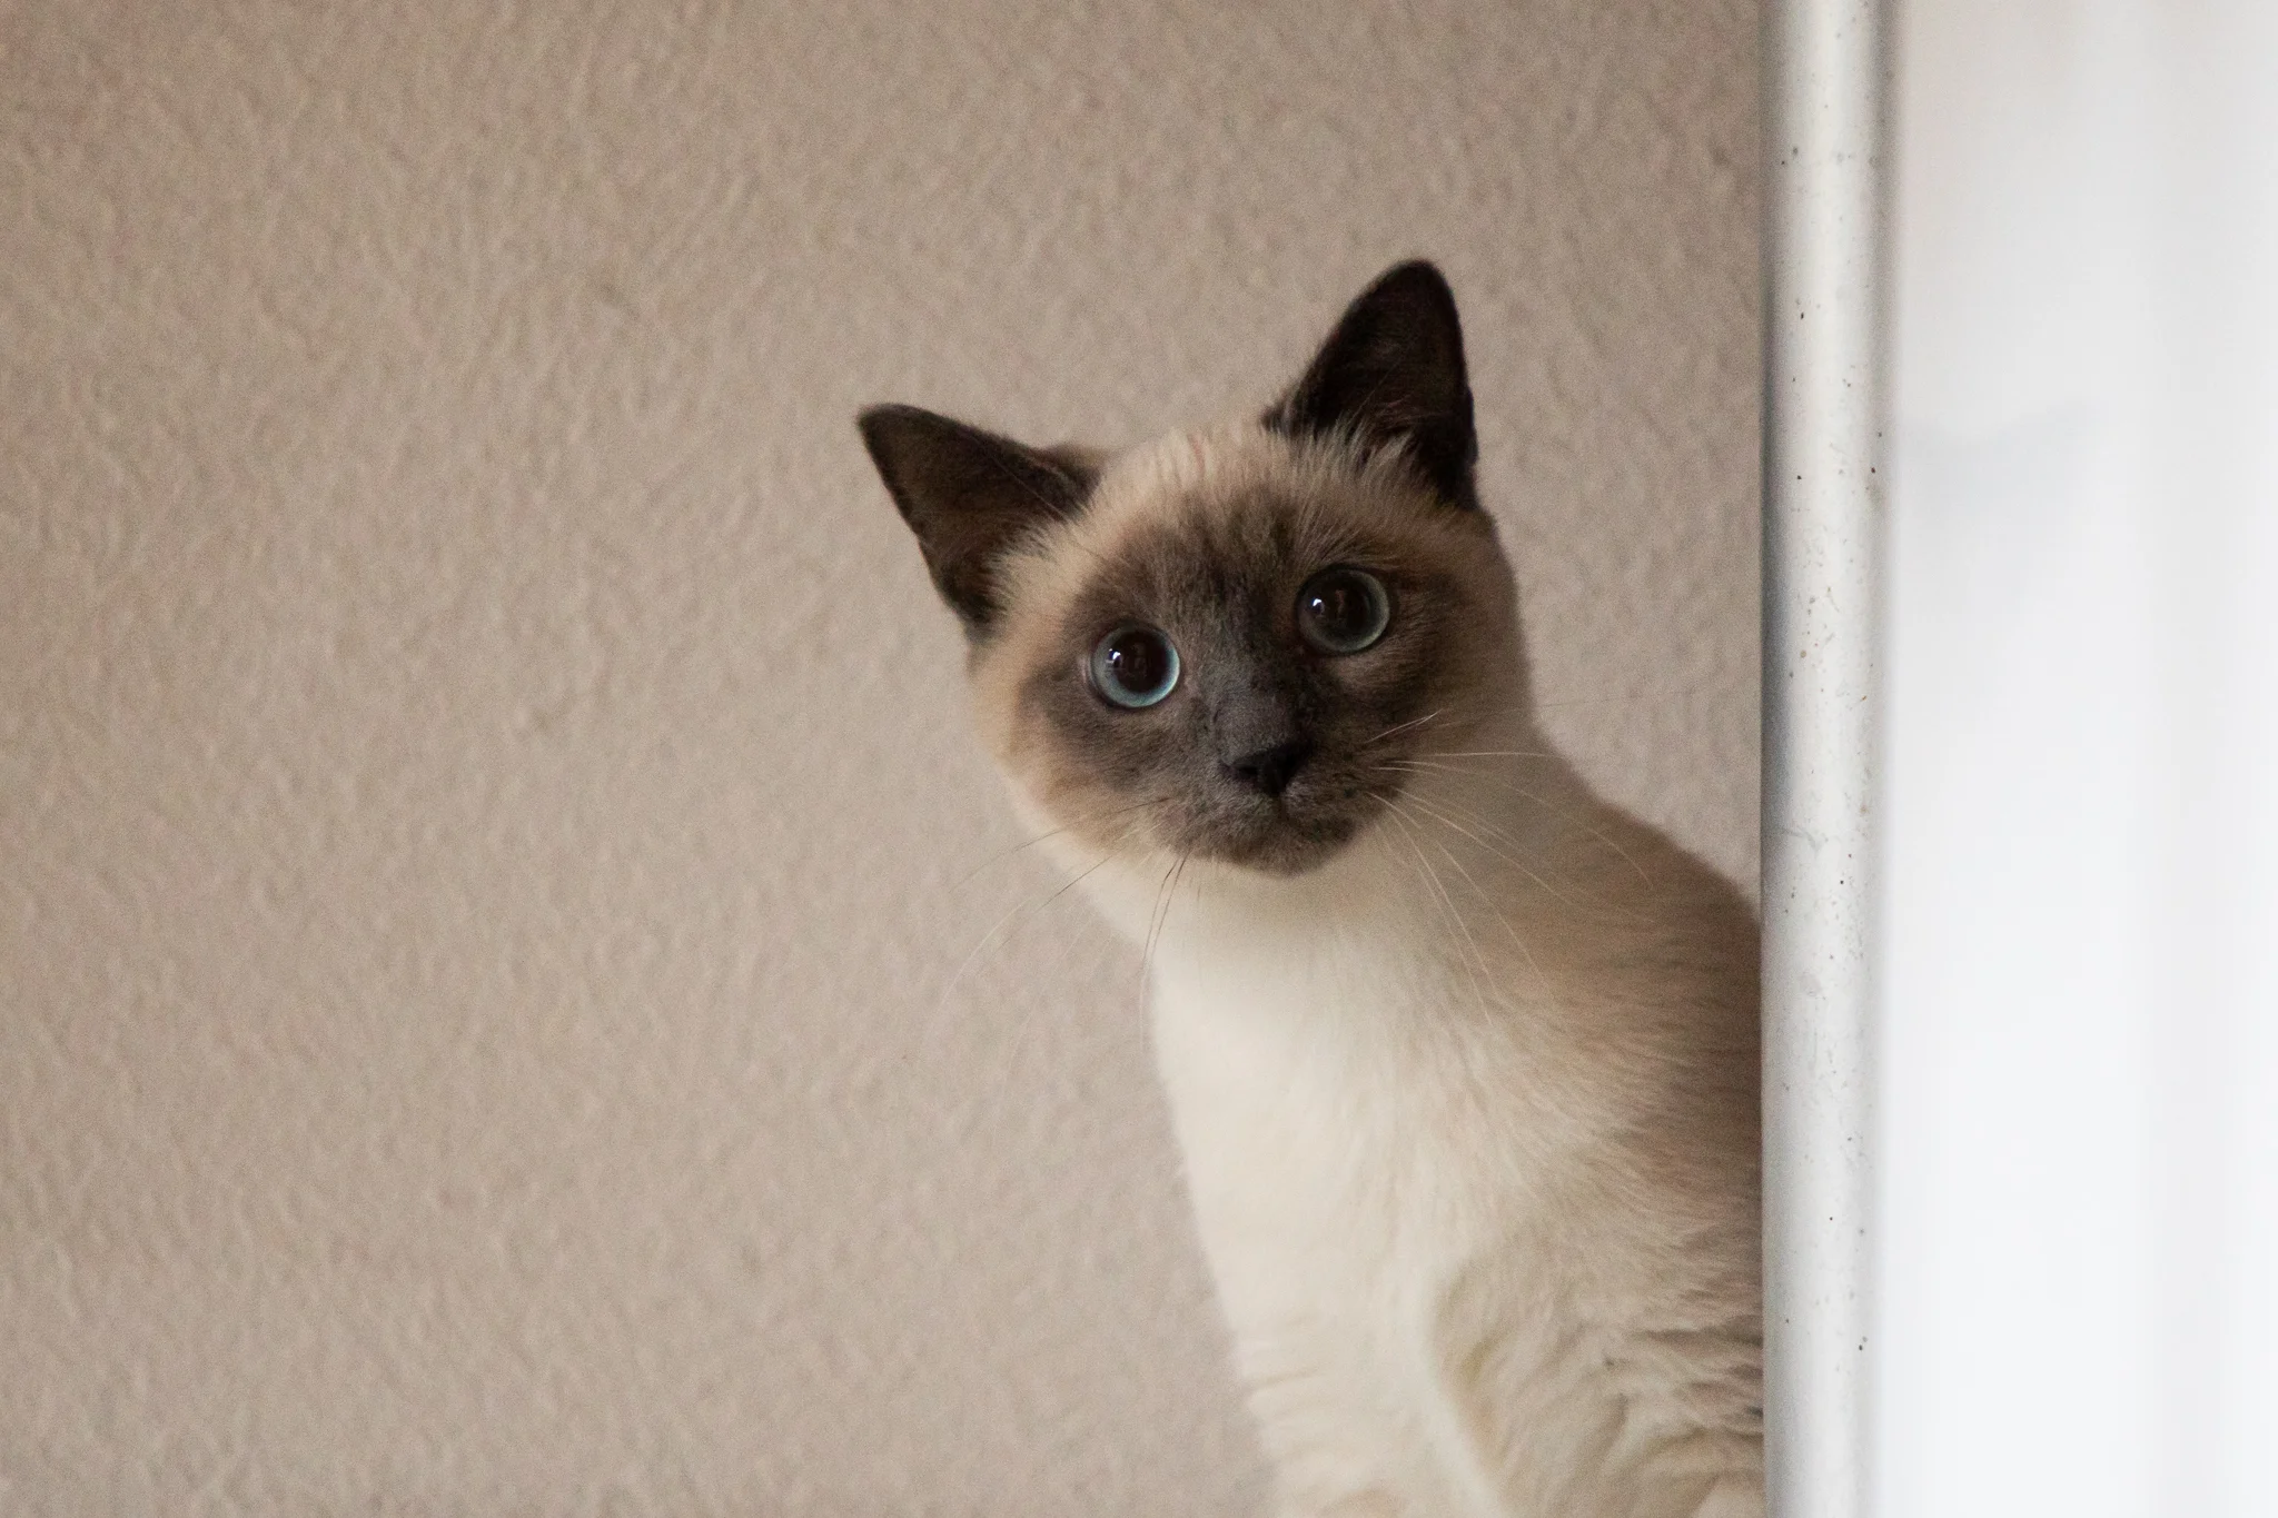
[[1253, 421], [1121, 455], [900, 405], [861, 432], [1000, 765], [1103, 856], [1310, 872], [1524, 701], [1431, 264], [1376, 280]]

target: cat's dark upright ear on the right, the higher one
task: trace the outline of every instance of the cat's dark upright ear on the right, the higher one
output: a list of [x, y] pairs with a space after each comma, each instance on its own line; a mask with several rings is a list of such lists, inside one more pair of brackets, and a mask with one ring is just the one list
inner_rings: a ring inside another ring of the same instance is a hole
[[1433, 489], [1451, 505], [1476, 508], [1472, 380], [1456, 294], [1440, 271], [1399, 264], [1360, 291], [1264, 423], [1292, 437], [1344, 432], [1365, 446], [1403, 444]]

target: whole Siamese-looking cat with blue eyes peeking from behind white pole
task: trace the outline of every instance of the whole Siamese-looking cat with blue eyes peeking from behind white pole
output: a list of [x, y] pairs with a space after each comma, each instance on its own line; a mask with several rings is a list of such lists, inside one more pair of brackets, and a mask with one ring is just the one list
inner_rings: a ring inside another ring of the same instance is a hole
[[1440, 271], [1255, 419], [859, 426], [1016, 810], [1144, 944], [1276, 1511], [1761, 1513], [1756, 917], [1535, 724]]

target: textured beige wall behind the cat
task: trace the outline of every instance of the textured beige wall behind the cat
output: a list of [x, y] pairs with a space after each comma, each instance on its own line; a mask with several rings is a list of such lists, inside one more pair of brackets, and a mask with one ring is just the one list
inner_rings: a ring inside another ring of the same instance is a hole
[[1255, 1502], [866, 401], [1442, 259], [1554, 728], [1754, 874], [1747, 0], [0, 16], [5, 1513]]

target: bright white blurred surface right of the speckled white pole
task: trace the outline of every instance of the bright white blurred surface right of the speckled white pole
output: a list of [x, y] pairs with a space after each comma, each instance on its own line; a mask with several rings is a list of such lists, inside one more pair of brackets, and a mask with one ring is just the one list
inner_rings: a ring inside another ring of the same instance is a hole
[[1884, 1518], [2278, 1511], [2278, 9], [1902, 7]]

